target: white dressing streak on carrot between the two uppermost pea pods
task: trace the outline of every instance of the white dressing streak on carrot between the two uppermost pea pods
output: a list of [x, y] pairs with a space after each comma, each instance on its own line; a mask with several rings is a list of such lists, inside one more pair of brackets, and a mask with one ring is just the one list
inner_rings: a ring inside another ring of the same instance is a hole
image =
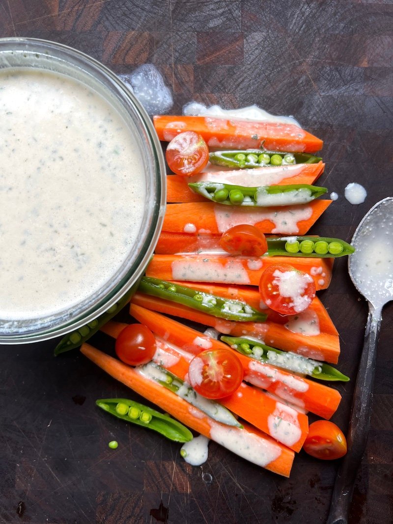
[[253, 169], [201, 172], [190, 177], [189, 182], [217, 182], [253, 188], [261, 185], [275, 185], [286, 178], [294, 177], [303, 170], [301, 164], [292, 166], [260, 167]]

